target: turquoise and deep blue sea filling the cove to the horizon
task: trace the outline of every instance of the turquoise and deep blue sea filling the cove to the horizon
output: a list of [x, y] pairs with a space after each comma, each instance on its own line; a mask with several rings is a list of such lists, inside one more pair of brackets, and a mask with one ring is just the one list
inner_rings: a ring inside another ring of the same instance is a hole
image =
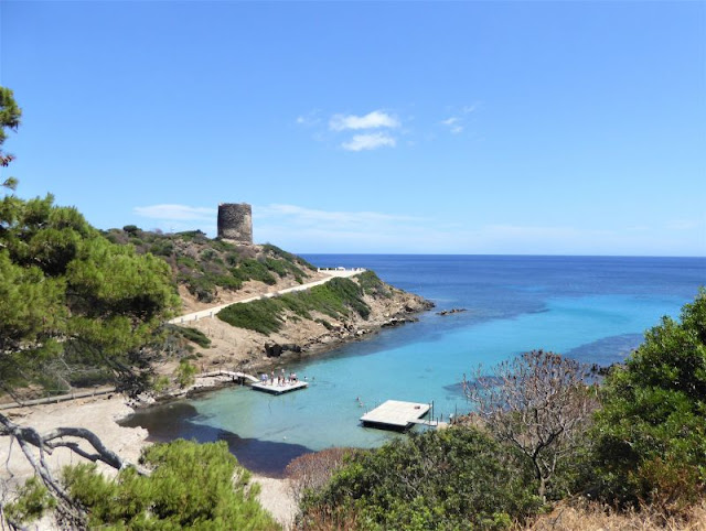
[[[706, 258], [304, 254], [319, 267], [366, 268], [436, 304], [286, 370], [306, 390], [279, 397], [232, 387], [151, 408], [125, 425], [150, 440], [226, 441], [250, 470], [281, 476], [291, 459], [331, 446], [375, 447], [406, 436], [363, 427], [386, 400], [467, 413], [464, 375], [533, 349], [585, 364], [620, 362], [664, 316], [677, 318], [706, 284]], [[442, 310], [464, 312], [438, 315]], [[422, 427], [417, 427], [422, 429]]]

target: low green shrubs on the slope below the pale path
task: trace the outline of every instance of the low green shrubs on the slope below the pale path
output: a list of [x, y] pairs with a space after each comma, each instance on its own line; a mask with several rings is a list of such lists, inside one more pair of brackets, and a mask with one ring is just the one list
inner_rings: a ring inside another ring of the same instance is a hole
[[355, 312], [367, 318], [371, 308], [363, 300], [364, 295], [364, 289], [359, 283], [350, 279], [332, 279], [307, 291], [232, 304], [218, 312], [217, 317], [232, 326], [269, 335], [281, 329], [287, 314], [313, 319], [311, 312], [333, 318]]

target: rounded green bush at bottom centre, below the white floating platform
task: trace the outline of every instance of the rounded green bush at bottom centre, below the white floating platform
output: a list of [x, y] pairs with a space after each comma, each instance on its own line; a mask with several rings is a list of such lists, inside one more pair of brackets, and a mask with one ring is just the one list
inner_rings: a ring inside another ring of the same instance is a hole
[[450, 427], [353, 455], [306, 496], [300, 525], [346, 529], [506, 529], [541, 507], [526, 470], [474, 429]]

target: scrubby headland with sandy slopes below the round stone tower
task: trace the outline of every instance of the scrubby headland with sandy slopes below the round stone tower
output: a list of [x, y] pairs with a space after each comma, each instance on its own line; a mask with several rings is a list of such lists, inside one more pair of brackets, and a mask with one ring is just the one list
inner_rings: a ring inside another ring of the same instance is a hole
[[[110, 229], [107, 239], [162, 258], [172, 270], [182, 314], [329, 278], [325, 271], [271, 245], [235, 245], [199, 230], [161, 234], [136, 226]], [[434, 304], [393, 288], [373, 271], [335, 278], [310, 290], [232, 305], [213, 318], [174, 330], [189, 343], [199, 370], [255, 370], [278, 358], [299, 358], [414, 321]], [[175, 370], [175, 360], [160, 371]]]

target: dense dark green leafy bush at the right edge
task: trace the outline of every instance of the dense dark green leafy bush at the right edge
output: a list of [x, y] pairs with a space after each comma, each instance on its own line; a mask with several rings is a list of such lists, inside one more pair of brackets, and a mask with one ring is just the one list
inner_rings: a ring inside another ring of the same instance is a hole
[[706, 485], [706, 291], [614, 369], [597, 416], [589, 488], [678, 511]]

